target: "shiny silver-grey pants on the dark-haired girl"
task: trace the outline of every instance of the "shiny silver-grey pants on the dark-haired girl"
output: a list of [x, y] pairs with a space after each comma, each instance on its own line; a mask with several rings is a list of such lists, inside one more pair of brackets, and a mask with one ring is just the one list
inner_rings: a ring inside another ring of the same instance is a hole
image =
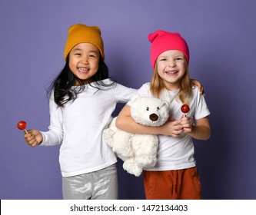
[[116, 165], [74, 177], [62, 177], [65, 200], [117, 200], [118, 174]]

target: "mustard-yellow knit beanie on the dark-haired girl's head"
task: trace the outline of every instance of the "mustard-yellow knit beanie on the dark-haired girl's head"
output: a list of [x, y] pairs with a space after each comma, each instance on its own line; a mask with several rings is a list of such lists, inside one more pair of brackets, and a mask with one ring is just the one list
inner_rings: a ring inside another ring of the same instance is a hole
[[101, 57], [105, 59], [104, 45], [101, 38], [101, 30], [98, 26], [87, 26], [83, 24], [71, 25], [68, 29], [68, 39], [64, 51], [64, 59], [68, 56], [71, 49], [78, 43], [91, 43], [96, 45], [101, 52]]

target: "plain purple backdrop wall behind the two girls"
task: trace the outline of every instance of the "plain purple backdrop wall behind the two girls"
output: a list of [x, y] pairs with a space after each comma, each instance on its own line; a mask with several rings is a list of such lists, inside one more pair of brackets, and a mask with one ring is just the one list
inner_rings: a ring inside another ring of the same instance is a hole
[[[64, 66], [68, 27], [84, 23], [101, 28], [111, 76], [132, 88], [151, 79], [148, 34], [183, 35], [211, 110], [211, 139], [195, 141], [203, 197], [256, 199], [255, 11], [254, 0], [1, 0], [0, 198], [62, 199], [58, 147], [28, 147], [16, 124], [48, 129], [45, 88]], [[120, 161], [118, 177], [121, 199], [144, 198]]]

